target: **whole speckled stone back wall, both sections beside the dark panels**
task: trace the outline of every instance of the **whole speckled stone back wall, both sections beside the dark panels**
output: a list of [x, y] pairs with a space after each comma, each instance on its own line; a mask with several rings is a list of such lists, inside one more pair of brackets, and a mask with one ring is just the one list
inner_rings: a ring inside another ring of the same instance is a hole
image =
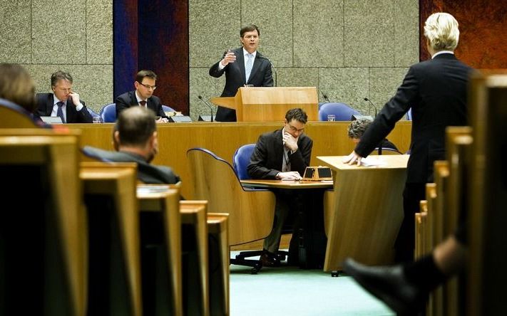
[[[317, 86], [364, 114], [364, 97], [381, 107], [407, 67], [419, 60], [419, 0], [188, 0], [190, 115], [208, 115], [198, 95], [220, 95], [224, 78], [208, 75], [240, 27], [260, 27], [260, 51], [278, 86]], [[4, 0], [0, 62], [29, 69], [38, 92], [53, 71], [70, 72], [93, 110], [113, 98], [113, 0]]]

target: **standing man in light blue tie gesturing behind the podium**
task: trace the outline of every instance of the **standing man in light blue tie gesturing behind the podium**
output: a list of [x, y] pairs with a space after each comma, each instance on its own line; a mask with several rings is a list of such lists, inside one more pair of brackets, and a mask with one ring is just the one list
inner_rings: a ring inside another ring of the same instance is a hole
[[[258, 51], [260, 31], [254, 24], [240, 30], [241, 48], [227, 50], [222, 60], [212, 65], [210, 75], [219, 78], [225, 73], [225, 88], [221, 97], [233, 97], [237, 89], [245, 86], [272, 87], [273, 77], [270, 60]], [[218, 107], [215, 120], [235, 122], [236, 111]]]

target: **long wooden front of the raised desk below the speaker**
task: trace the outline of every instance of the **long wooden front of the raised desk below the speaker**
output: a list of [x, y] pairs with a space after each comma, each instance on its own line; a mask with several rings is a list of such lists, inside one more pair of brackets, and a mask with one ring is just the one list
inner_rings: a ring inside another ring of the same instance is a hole
[[[346, 155], [354, 149], [347, 136], [349, 122], [308, 122], [305, 132], [314, 141], [310, 164], [317, 166], [317, 156]], [[113, 124], [67, 124], [71, 130], [81, 129], [81, 144], [113, 149]], [[187, 150], [204, 147], [232, 164], [232, 155], [242, 144], [255, 143], [263, 132], [282, 127], [280, 122], [193, 122], [159, 124], [158, 143], [160, 152], [154, 164], [173, 167], [183, 182], [181, 193], [185, 199], [195, 199]], [[400, 121], [388, 136], [401, 152], [410, 145], [411, 122]]]

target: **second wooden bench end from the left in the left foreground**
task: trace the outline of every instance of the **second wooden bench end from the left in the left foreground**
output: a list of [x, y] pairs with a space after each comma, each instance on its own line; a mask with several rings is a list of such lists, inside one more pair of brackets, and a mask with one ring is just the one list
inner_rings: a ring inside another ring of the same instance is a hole
[[[88, 312], [142, 315], [136, 165], [81, 162], [88, 217]], [[107, 298], [104, 298], [107, 297]]]

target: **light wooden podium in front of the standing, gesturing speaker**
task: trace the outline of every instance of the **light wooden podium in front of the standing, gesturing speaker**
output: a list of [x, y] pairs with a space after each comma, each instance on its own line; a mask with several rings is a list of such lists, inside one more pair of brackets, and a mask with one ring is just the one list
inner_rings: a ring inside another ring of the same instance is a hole
[[242, 87], [234, 97], [211, 98], [211, 102], [236, 110], [237, 122], [277, 122], [287, 110], [301, 107], [309, 121], [319, 120], [315, 87]]

